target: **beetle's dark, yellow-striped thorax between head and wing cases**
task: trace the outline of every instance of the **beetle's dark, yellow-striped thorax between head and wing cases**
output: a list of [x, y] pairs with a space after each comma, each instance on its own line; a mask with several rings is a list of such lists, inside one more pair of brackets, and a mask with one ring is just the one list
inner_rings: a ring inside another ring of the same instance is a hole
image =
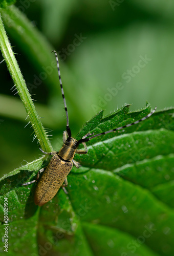
[[63, 160], [71, 161], [74, 158], [76, 149], [78, 147], [76, 143], [76, 139], [68, 138], [60, 148], [58, 156], [60, 156]]

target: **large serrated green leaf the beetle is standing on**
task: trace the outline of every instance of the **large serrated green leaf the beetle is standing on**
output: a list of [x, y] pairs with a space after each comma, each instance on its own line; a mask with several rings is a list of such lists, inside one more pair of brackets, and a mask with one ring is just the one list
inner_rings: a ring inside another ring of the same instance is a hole
[[[106, 117], [100, 112], [86, 122], [77, 138], [139, 120], [150, 112], [149, 104], [138, 112], [129, 113], [128, 108], [125, 105]], [[173, 109], [159, 111], [125, 130], [89, 141], [88, 154], [75, 157], [81, 167], [73, 167], [68, 176], [69, 194], [60, 189], [42, 207], [34, 204], [36, 184], [20, 184], [33, 180], [49, 158], [2, 178], [0, 218], [3, 224], [7, 197], [10, 255], [16, 251], [18, 255], [172, 255], [172, 114]]]

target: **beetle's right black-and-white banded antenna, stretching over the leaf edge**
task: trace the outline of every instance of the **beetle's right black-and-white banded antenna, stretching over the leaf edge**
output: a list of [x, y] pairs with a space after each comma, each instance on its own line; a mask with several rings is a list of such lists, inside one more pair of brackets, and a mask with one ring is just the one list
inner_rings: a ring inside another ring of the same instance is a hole
[[84, 138], [84, 139], [78, 140], [77, 143], [80, 144], [80, 143], [89, 141], [89, 140], [91, 140], [91, 139], [93, 139], [93, 138], [95, 138], [95, 137], [98, 137], [98, 136], [100, 136], [100, 135], [104, 135], [104, 134], [107, 134], [107, 133], [112, 133], [112, 132], [114, 132], [114, 131], [119, 131], [119, 130], [125, 128], [125, 127], [129, 127], [129, 126], [132, 126], [132, 125], [134, 125], [134, 124], [137, 124], [137, 123], [139, 123], [139, 122], [141, 122], [141, 121], [144, 121], [145, 119], [147, 119], [148, 117], [150, 117], [152, 114], [154, 114], [154, 112], [156, 111], [156, 109], [157, 109], [157, 106], [155, 107], [155, 109], [154, 109], [152, 112], [150, 112], [147, 116], [141, 118], [140, 120], [137, 120], [137, 121], [135, 121], [135, 122], [133, 122], [133, 123], [126, 124], [126, 125], [124, 125], [124, 126], [118, 127], [118, 128], [116, 128], [116, 129], [113, 129], [113, 130], [110, 130], [110, 131], [106, 131], [106, 132], [103, 132], [103, 133], [99, 133], [99, 134], [93, 135], [93, 136], [90, 137], [90, 138]]

